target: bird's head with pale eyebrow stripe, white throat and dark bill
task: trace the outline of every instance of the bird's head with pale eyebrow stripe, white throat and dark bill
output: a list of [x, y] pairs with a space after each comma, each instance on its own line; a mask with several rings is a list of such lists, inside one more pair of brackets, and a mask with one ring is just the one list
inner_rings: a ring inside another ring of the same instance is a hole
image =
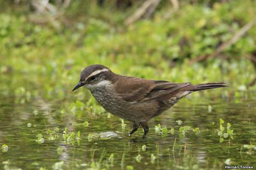
[[114, 74], [106, 66], [100, 64], [94, 64], [83, 69], [80, 75], [80, 81], [72, 91], [77, 88], [85, 86], [86, 88], [93, 90], [97, 87], [108, 86], [111, 82], [108, 80], [109, 74]]

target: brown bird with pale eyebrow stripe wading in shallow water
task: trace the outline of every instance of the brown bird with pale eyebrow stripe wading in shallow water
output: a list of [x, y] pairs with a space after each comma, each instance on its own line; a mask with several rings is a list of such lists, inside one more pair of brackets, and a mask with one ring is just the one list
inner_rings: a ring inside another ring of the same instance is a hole
[[100, 64], [83, 69], [80, 81], [72, 91], [82, 86], [91, 91], [107, 112], [133, 123], [129, 136], [141, 126], [144, 138], [149, 132], [147, 122], [169, 109], [180, 98], [195, 91], [227, 87], [225, 83], [171, 83], [120, 76]]

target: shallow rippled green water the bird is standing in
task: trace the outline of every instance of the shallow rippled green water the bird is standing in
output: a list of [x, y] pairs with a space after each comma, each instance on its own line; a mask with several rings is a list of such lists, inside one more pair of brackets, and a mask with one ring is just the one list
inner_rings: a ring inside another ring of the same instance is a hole
[[[122, 129], [121, 120], [107, 113], [93, 114], [86, 109], [75, 114], [63, 112], [63, 107], [75, 101], [73, 98], [57, 101], [32, 97], [20, 103], [20, 98], [17, 102], [17, 97], [1, 94], [0, 144], [7, 144], [8, 151], [0, 152], [0, 169], [131, 169], [131, 166], [134, 169], [224, 169], [226, 164], [256, 166], [255, 148], [244, 147], [250, 143], [255, 146], [255, 92], [245, 93], [239, 99], [213, 98], [214, 92], [200, 93], [199, 96], [192, 94], [153, 119], [146, 140], [141, 139], [141, 128], [132, 137], [127, 137], [131, 123], [125, 121], [127, 126]], [[222, 143], [218, 136], [220, 118], [225, 121], [224, 132], [227, 131], [227, 122], [234, 129], [233, 139], [223, 137]], [[183, 123], [179, 125], [178, 120]], [[88, 121], [88, 127], [83, 125], [85, 121]], [[157, 124], [174, 128], [174, 134], [163, 137], [155, 132]], [[180, 137], [179, 128], [182, 126], [199, 127], [200, 132], [196, 134], [190, 130]], [[75, 132], [75, 143], [63, 138], [65, 128], [67, 133]], [[55, 129], [56, 133], [47, 134], [47, 129]], [[80, 139], [76, 139], [78, 131]], [[41, 144], [36, 142], [38, 133], [44, 138]], [[52, 136], [55, 139], [50, 140]], [[142, 149], [144, 145], [145, 151]], [[62, 152], [57, 152], [57, 148], [62, 148]]]

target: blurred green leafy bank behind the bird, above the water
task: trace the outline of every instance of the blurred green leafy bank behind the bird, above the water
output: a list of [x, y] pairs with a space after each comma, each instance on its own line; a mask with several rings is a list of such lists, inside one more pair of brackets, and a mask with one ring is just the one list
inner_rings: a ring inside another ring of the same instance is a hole
[[147, 79], [255, 89], [249, 86], [255, 26], [217, 52], [255, 23], [255, 1], [45, 2], [1, 1], [0, 70], [8, 77], [1, 88], [7, 91], [33, 84], [46, 96], [65, 97], [80, 71], [96, 63]]

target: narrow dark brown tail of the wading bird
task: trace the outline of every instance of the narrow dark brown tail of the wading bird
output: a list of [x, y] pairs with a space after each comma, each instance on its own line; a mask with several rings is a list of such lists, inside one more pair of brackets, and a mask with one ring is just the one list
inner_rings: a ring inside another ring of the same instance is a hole
[[204, 84], [191, 84], [189, 86], [184, 87], [186, 91], [203, 91], [205, 89], [211, 88], [220, 88], [220, 87], [228, 87], [225, 82], [221, 83], [204, 83]]

